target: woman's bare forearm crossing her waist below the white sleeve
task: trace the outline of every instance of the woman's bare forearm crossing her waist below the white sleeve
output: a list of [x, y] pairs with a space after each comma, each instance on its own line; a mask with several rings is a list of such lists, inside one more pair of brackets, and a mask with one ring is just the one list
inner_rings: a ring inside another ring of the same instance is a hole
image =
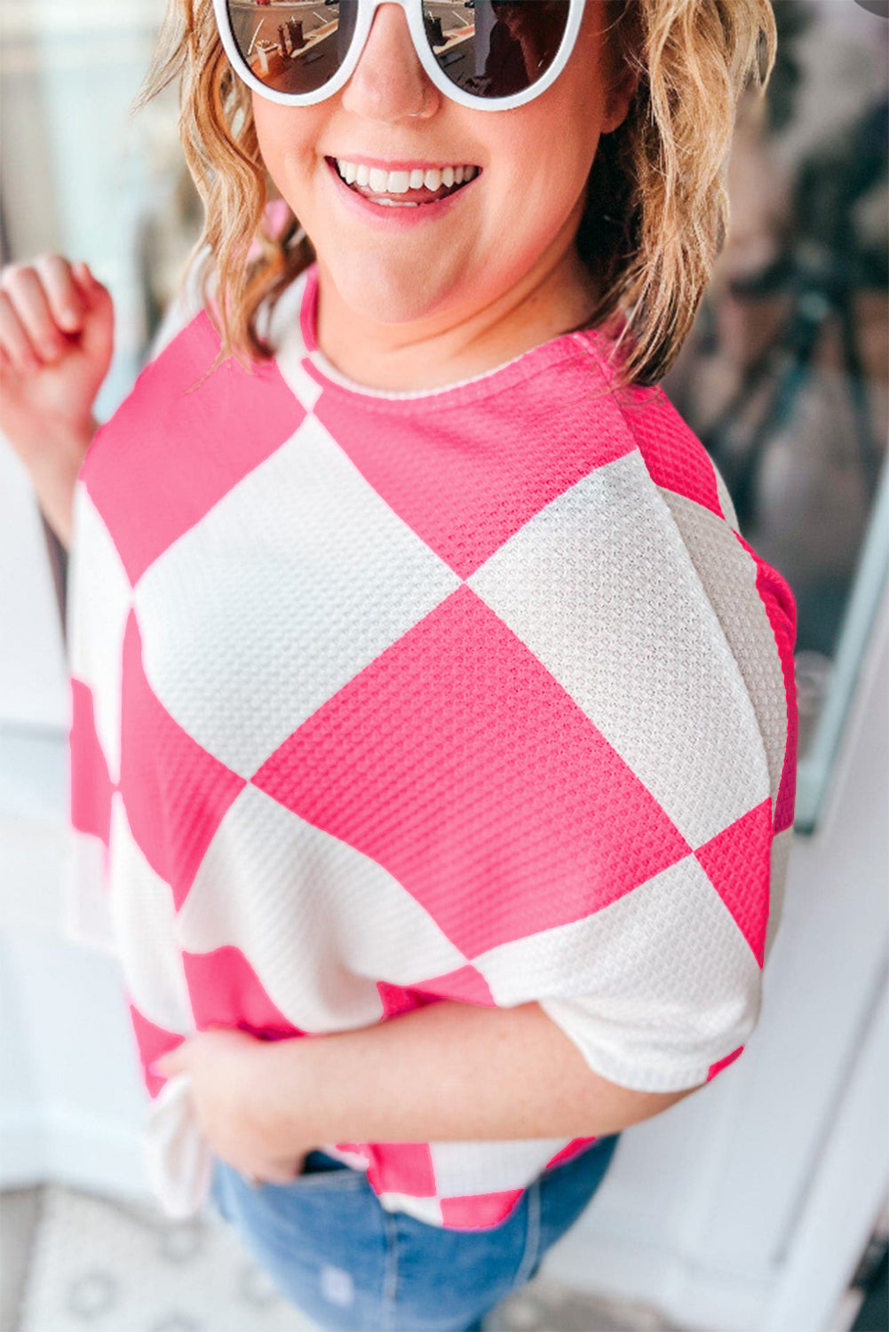
[[594, 1074], [537, 1003], [441, 1000], [372, 1027], [265, 1047], [276, 1142], [598, 1138], [688, 1088], [632, 1091]]

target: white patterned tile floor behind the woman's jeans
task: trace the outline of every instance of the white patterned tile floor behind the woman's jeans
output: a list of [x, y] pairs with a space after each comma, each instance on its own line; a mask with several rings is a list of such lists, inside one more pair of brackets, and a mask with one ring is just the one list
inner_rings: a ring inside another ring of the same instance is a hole
[[[215, 1217], [55, 1184], [0, 1193], [1, 1332], [316, 1332]], [[536, 1277], [489, 1332], [682, 1332], [654, 1311]]]

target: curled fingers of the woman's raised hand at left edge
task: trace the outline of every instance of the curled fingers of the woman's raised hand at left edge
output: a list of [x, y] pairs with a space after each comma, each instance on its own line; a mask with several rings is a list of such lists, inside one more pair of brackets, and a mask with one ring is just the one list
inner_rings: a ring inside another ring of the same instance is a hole
[[41, 254], [31, 264], [0, 270], [0, 346], [23, 374], [65, 354], [87, 310], [83, 288], [68, 260]]

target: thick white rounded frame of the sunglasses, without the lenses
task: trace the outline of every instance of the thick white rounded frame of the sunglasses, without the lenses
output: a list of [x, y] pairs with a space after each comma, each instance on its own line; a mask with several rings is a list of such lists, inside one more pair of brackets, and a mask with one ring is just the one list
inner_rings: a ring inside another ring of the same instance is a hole
[[349, 43], [349, 49], [345, 53], [345, 60], [332, 79], [329, 79], [320, 88], [316, 88], [313, 92], [305, 93], [277, 92], [275, 88], [267, 88], [267, 85], [256, 77], [237, 48], [235, 32], [228, 17], [227, 0], [213, 0], [213, 9], [216, 13], [216, 27], [219, 28], [219, 35], [221, 37], [223, 47], [225, 48], [229, 64], [232, 65], [235, 73], [243, 79], [249, 88], [257, 92], [260, 97], [267, 97], [269, 101], [277, 101], [283, 107], [312, 107], [319, 101], [325, 101], [328, 97], [332, 97], [333, 93], [339, 92], [340, 88], [343, 88], [344, 84], [347, 84], [352, 77], [368, 40], [371, 24], [373, 23], [377, 7], [387, 3], [400, 4], [404, 9], [405, 19], [408, 20], [408, 28], [411, 29], [411, 36], [413, 39], [413, 48], [417, 53], [420, 64], [439, 92], [443, 92], [458, 105], [469, 107], [473, 111], [510, 111], [513, 107], [524, 107], [525, 103], [533, 101], [534, 97], [540, 97], [540, 95], [545, 92], [550, 84], [556, 81], [556, 79], [558, 79], [558, 75], [568, 64], [570, 53], [574, 49], [586, 0], [569, 0], [565, 32], [562, 33], [562, 40], [546, 72], [528, 88], [524, 88], [521, 92], [510, 93], [508, 97], [481, 97], [478, 93], [465, 92], [448, 79], [446, 73], [440, 68], [439, 61], [432, 53], [432, 47], [423, 21], [423, 0], [357, 0], [359, 16], [355, 24], [352, 41]]

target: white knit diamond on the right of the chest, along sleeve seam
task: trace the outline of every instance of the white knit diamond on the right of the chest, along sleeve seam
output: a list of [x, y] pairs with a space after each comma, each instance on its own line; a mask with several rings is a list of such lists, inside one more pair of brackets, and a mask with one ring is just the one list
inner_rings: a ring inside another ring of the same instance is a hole
[[692, 847], [766, 799], [738, 663], [638, 452], [562, 492], [466, 582]]

